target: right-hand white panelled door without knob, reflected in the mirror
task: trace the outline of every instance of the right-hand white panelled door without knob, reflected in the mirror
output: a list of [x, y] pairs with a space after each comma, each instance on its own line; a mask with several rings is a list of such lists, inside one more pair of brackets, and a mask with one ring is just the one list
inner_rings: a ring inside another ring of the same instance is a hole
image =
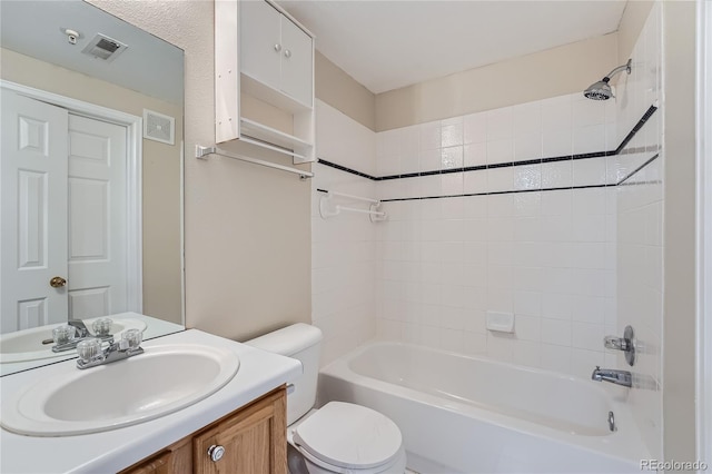
[[126, 127], [69, 116], [69, 317], [128, 310]]

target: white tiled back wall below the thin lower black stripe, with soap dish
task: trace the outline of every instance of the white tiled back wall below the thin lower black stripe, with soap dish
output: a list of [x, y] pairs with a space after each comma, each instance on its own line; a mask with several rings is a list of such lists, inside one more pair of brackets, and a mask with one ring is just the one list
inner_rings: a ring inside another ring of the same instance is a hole
[[[387, 204], [378, 336], [590, 376], [615, 333], [606, 199], [615, 189]], [[515, 334], [487, 332], [488, 309], [514, 312]]]

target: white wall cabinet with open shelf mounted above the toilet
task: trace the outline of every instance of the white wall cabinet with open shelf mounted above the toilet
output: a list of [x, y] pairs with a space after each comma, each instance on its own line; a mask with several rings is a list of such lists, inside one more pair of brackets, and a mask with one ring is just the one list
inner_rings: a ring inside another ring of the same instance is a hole
[[[215, 21], [216, 141], [240, 139], [314, 161], [314, 36], [267, 0], [216, 2]], [[267, 122], [269, 112], [248, 116], [245, 96], [290, 115], [291, 129]]]

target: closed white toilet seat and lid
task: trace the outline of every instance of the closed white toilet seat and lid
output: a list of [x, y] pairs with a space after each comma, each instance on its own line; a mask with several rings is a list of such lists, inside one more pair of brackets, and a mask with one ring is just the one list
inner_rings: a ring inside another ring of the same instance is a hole
[[307, 458], [335, 472], [383, 472], [403, 454], [393, 421], [350, 403], [327, 403], [299, 423], [293, 436]]

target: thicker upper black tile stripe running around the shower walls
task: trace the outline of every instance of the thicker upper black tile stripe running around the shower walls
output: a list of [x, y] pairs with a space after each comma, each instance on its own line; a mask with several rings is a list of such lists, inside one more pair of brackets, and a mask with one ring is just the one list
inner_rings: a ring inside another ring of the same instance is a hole
[[[633, 139], [635, 134], [637, 134], [641, 130], [641, 128], [643, 128], [645, 122], [647, 122], [647, 120], [653, 116], [655, 110], [657, 110], [657, 107], [650, 106], [650, 108], [645, 111], [645, 113], [643, 113], [643, 117], [637, 121], [637, 124], [635, 124], [633, 129], [625, 136], [623, 141], [621, 141], [621, 145], [619, 145], [619, 147], [615, 150], [611, 150], [611, 151], [594, 151], [594, 152], [589, 152], [589, 154], [563, 155], [563, 156], [558, 156], [558, 157], [528, 159], [528, 160], [522, 160], [522, 161], [496, 162], [496, 164], [491, 164], [491, 165], [467, 166], [467, 167], [462, 167], [462, 168], [448, 168], [448, 169], [442, 169], [442, 170], [436, 170], [436, 171], [408, 172], [408, 174], [405, 174], [405, 175], [386, 175], [386, 176], [367, 175], [365, 172], [360, 172], [358, 170], [355, 170], [355, 169], [352, 169], [352, 168], [348, 168], [348, 167], [345, 167], [345, 166], [342, 166], [342, 165], [337, 165], [335, 162], [327, 161], [327, 160], [322, 159], [322, 158], [318, 158], [317, 162], [319, 165], [324, 165], [324, 166], [328, 166], [328, 167], [332, 167], [332, 168], [335, 168], [335, 169], [338, 169], [338, 170], [342, 170], [342, 171], [350, 172], [352, 175], [360, 176], [362, 178], [370, 179], [373, 181], [388, 181], [388, 180], [392, 180], [392, 179], [417, 178], [417, 177], [434, 176], [434, 175], [449, 175], [449, 174], [453, 174], [453, 172], [481, 171], [481, 170], [484, 170], [484, 169], [510, 168], [510, 167], [527, 166], [527, 165], [540, 165], [540, 164], [543, 164], [543, 162], [568, 161], [568, 160], [578, 160], [578, 159], [589, 159], [589, 158], [602, 158], [602, 157], [620, 155], [624, 150], [625, 146]], [[654, 158], [652, 158], [652, 159], [654, 159]], [[652, 159], [650, 161], [652, 161]], [[647, 162], [645, 165], [647, 165]], [[643, 167], [645, 165], [643, 165]], [[615, 186], [615, 185], [609, 185], [609, 186]], [[563, 189], [571, 189], [571, 188], [563, 188]]]

